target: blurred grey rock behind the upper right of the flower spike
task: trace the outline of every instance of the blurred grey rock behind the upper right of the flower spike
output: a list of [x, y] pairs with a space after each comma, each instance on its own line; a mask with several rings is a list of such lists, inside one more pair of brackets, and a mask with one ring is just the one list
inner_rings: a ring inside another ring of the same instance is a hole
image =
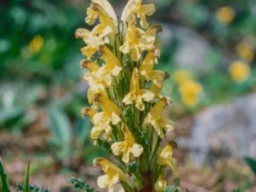
[[176, 41], [177, 49], [172, 50], [172, 61], [177, 67], [191, 70], [195, 74], [207, 73], [212, 70], [212, 65], [207, 63], [207, 55], [211, 49], [210, 44], [199, 33], [183, 26], [162, 25], [163, 33], [160, 40], [164, 47]]

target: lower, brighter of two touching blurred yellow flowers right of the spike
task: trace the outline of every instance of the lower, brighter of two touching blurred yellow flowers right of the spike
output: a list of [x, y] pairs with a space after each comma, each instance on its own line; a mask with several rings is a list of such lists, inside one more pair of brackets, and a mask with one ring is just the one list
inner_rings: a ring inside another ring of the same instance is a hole
[[202, 86], [193, 80], [188, 80], [187, 82], [181, 84], [178, 90], [185, 105], [195, 106], [198, 102], [198, 96], [202, 91]]

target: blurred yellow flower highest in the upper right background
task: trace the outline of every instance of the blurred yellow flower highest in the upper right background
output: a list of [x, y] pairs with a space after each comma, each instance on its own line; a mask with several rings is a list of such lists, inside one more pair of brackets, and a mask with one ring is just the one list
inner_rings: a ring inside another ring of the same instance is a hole
[[230, 6], [220, 7], [216, 11], [217, 20], [223, 23], [224, 25], [230, 24], [230, 22], [234, 20], [235, 15], [236, 15], [235, 10]]

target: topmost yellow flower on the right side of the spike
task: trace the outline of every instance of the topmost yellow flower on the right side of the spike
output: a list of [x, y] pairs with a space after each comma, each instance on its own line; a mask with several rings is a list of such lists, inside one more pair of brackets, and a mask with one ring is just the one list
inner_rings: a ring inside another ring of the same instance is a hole
[[134, 20], [134, 16], [137, 15], [140, 24], [143, 28], [148, 28], [148, 21], [146, 16], [154, 14], [155, 8], [154, 4], [142, 5], [143, 0], [130, 0], [122, 13], [121, 20], [127, 22], [129, 20]]

